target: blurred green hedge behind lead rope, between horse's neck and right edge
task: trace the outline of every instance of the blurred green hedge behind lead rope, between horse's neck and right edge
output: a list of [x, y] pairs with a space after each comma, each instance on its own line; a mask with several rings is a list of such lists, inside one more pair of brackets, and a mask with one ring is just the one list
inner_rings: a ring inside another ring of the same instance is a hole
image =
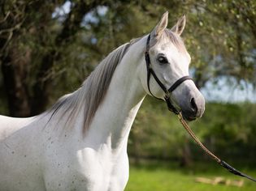
[[[206, 104], [202, 119], [189, 123], [198, 138], [223, 159], [255, 163], [256, 105]], [[146, 158], [182, 159], [184, 146], [192, 159], [205, 159], [202, 150], [164, 103], [146, 99], [132, 127], [128, 152]], [[252, 160], [252, 161], [249, 161]]]

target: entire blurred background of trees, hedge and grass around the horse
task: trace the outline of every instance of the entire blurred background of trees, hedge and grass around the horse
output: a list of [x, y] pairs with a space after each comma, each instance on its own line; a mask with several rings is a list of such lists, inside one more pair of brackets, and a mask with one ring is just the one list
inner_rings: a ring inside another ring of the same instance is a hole
[[[169, 11], [182, 15], [190, 74], [206, 98], [191, 122], [222, 159], [256, 176], [256, 1], [2, 0], [0, 113], [37, 115], [75, 91], [111, 50], [144, 36]], [[237, 177], [220, 169], [189, 138], [166, 105], [147, 97], [128, 142], [127, 190], [241, 190], [195, 177]], [[185, 184], [186, 183], [186, 184]], [[243, 190], [256, 187], [245, 180]]]

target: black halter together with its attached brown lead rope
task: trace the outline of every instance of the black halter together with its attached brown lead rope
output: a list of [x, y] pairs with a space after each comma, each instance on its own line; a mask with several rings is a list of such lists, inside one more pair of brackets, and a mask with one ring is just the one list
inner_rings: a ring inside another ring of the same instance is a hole
[[[167, 103], [168, 109], [171, 112], [174, 112], [179, 117], [181, 125], [184, 126], [184, 129], [186, 129], [188, 131], [188, 133], [193, 138], [193, 140], [197, 143], [197, 145], [200, 146], [202, 148], [202, 150], [206, 152], [207, 155], [210, 155], [210, 157], [212, 159], [215, 159], [215, 161], [217, 163], [219, 163], [223, 168], [226, 168], [228, 170], [228, 172], [231, 172], [231, 173], [233, 173], [233, 174], [235, 174], [237, 176], [243, 176], [243, 177], [245, 177], [245, 178], [247, 178], [249, 180], [253, 180], [254, 182], [256, 182], [256, 180], [253, 177], [245, 175], [244, 173], [237, 171], [236, 168], [233, 168], [231, 165], [229, 165], [228, 163], [226, 163], [222, 159], [219, 159], [219, 157], [217, 157], [212, 152], [210, 152], [206, 148], [206, 146], [204, 146], [202, 144], [202, 142], [200, 142], [200, 140], [197, 138], [197, 136], [193, 133], [192, 129], [190, 129], [190, 127], [187, 124], [187, 122], [184, 121], [184, 118], [182, 117], [182, 114], [181, 114], [181, 108], [176, 103], [175, 99], [172, 97], [171, 92], [174, 91], [176, 89], [176, 87], [180, 86], [180, 83], [183, 83], [185, 80], [187, 80], [187, 79], [193, 80], [193, 79], [191, 77], [189, 77], [189, 76], [181, 77], [169, 89], [167, 89], [163, 85], [163, 83], [161, 83], [161, 81], [158, 79], [157, 75], [154, 73], [154, 70], [153, 70], [153, 68], [151, 66], [151, 62], [150, 62], [150, 35], [148, 36], [148, 38], [146, 40], [145, 63], [146, 63], [146, 69], [147, 69], [147, 86], [148, 86], [148, 89], [150, 91], [150, 94], [152, 96], [154, 96], [152, 94], [151, 90], [150, 90], [150, 75], [152, 74], [154, 79], [155, 79], [155, 81], [158, 83], [159, 87], [161, 87], [162, 90], [165, 92], [164, 100]], [[159, 99], [156, 96], [154, 96], [154, 97], [156, 99], [158, 99], [158, 100], [162, 100], [162, 99]]]

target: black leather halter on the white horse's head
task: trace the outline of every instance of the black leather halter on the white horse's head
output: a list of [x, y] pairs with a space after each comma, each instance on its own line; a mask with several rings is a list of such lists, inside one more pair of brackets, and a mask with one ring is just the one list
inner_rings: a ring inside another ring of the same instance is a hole
[[[155, 81], [158, 83], [158, 85], [162, 88], [162, 90], [165, 92], [165, 96], [164, 96], [164, 100], [167, 103], [167, 107], [171, 112], [174, 112], [176, 114], [179, 114], [180, 112], [180, 106], [178, 104], [176, 104], [176, 101], [172, 98], [171, 96], [171, 92], [174, 91], [176, 89], [176, 87], [180, 86], [180, 83], [183, 83], [185, 80], [190, 79], [193, 80], [190, 76], [186, 75], [184, 77], [181, 77], [180, 79], [178, 79], [175, 83], [172, 84], [172, 86], [167, 89], [163, 83], [161, 83], [161, 81], [158, 79], [157, 75], [154, 73], [154, 70], [151, 66], [151, 62], [150, 62], [150, 35], [148, 36], [147, 40], [146, 40], [146, 48], [145, 48], [145, 63], [146, 63], [146, 69], [147, 69], [147, 86], [148, 89], [150, 91], [150, 94], [152, 96], [154, 96], [150, 90], [150, 74], [153, 75]], [[162, 100], [159, 99], [158, 97], [154, 96], [155, 98], [157, 98], [158, 100]]]

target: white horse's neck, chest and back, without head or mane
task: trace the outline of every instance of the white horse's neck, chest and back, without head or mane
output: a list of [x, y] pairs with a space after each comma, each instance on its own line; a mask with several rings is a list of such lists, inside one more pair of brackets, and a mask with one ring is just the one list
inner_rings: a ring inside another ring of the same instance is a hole
[[33, 118], [0, 117], [5, 121], [0, 129], [2, 190], [124, 189], [128, 134], [145, 96], [134, 76], [137, 57], [130, 55], [128, 51], [124, 63], [117, 66], [85, 137], [81, 134], [82, 112], [66, 130], [54, 127], [65, 125], [62, 121], [48, 122], [51, 113]]

